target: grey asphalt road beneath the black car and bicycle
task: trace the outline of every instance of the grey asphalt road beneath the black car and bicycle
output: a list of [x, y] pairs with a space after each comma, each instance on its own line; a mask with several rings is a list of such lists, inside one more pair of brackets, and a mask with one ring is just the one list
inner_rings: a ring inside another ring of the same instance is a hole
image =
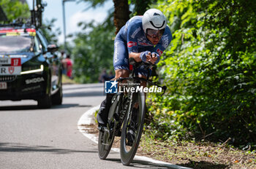
[[103, 84], [65, 84], [63, 104], [51, 109], [0, 101], [0, 169], [167, 168], [144, 160], [127, 167], [112, 151], [99, 160], [97, 144], [79, 132], [78, 120], [104, 98]]

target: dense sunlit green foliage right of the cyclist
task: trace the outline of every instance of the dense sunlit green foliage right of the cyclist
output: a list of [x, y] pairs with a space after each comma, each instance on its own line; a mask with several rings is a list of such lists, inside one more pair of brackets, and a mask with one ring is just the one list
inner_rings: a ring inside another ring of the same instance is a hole
[[[148, 101], [156, 121], [165, 126], [161, 132], [166, 138], [174, 133], [255, 144], [256, 4], [169, 0], [159, 9], [173, 33], [159, 63], [167, 95], [150, 95]], [[171, 113], [162, 117], [165, 112]]]

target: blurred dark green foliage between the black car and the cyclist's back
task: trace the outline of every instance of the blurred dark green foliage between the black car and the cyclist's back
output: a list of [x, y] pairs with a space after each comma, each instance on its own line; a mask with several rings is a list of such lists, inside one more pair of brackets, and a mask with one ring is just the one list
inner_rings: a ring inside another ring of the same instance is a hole
[[76, 35], [75, 47], [72, 50], [77, 82], [98, 82], [99, 74], [103, 69], [113, 71], [115, 29], [111, 18], [112, 16], [108, 17], [105, 23], [97, 25], [94, 25], [94, 21], [80, 23], [85, 31]]

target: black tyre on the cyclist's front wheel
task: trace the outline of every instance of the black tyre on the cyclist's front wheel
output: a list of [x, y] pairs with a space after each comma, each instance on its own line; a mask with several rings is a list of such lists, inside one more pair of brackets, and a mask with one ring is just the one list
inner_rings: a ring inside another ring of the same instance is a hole
[[[128, 114], [126, 114], [124, 119], [124, 124], [121, 131], [121, 143], [120, 143], [120, 155], [121, 155], [121, 162], [123, 165], [129, 165], [133, 158], [135, 157], [135, 154], [137, 152], [138, 146], [140, 144], [140, 137], [143, 132], [143, 123], [144, 123], [144, 117], [145, 117], [145, 94], [144, 93], [135, 93], [135, 97], [138, 97], [138, 128], [135, 130], [135, 141], [132, 144], [132, 147], [130, 150], [127, 150], [127, 125], [129, 123]], [[132, 111], [132, 109], [129, 109], [129, 111]]]

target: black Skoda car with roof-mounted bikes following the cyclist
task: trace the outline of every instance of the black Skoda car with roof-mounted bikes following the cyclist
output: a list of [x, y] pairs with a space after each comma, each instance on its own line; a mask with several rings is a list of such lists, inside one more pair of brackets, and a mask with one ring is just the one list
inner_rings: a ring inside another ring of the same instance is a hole
[[62, 103], [58, 47], [31, 25], [0, 25], [0, 101], [33, 99], [40, 108]]

